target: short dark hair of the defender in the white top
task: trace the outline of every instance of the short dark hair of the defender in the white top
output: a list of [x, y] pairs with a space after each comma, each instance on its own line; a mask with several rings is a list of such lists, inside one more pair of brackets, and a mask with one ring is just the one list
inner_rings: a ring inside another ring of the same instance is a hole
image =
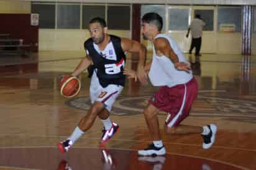
[[149, 12], [142, 17], [142, 22], [157, 26], [158, 31], [163, 28], [163, 19], [155, 12]]

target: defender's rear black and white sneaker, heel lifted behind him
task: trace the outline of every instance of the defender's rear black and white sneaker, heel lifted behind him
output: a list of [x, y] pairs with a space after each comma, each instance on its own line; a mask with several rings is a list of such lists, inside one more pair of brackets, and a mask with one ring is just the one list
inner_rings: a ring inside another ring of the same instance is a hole
[[215, 141], [215, 135], [217, 132], [217, 126], [214, 124], [211, 125], [207, 125], [210, 132], [208, 135], [202, 135], [204, 142], [203, 142], [203, 148], [204, 149], [209, 149], [211, 148], [211, 146], [213, 145], [214, 141]]

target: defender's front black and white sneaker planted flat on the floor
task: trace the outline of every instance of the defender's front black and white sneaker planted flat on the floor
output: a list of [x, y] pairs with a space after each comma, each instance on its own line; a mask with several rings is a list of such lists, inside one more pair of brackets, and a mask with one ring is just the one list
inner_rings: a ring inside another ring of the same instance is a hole
[[158, 148], [157, 146], [153, 145], [153, 143], [151, 143], [147, 149], [138, 151], [140, 156], [158, 156], [164, 155], [165, 153], [165, 146]]

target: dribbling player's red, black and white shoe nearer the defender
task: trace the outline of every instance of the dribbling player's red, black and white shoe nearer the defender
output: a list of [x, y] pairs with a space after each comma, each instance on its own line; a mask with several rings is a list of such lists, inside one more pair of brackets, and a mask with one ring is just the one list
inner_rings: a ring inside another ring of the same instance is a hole
[[104, 146], [106, 145], [106, 143], [112, 138], [112, 136], [114, 136], [115, 133], [117, 133], [119, 130], [119, 125], [117, 125], [117, 123], [112, 123], [111, 128], [109, 128], [109, 130], [105, 130], [105, 128], [103, 128], [102, 132], [103, 132], [103, 136], [101, 136], [101, 141], [99, 141], [99, 146]]

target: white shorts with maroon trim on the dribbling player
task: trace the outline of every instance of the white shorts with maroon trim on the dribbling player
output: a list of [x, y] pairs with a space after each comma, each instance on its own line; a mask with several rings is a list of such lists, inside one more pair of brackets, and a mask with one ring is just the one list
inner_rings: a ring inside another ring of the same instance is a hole
[[112, 105], [116, 101], [119, 94], [122, 92], [124, 87], [116, 84], [109, 84], [107, 87], [102, 87], [99, 84], [99, 79], [96, 72], [93, 71], [93, 76], [91, 77], [91, 85], [89, 88], [89, 97], [91, 99], [91, 104], [95, 101], [102, 102], [105, 108], [110, 112]]

